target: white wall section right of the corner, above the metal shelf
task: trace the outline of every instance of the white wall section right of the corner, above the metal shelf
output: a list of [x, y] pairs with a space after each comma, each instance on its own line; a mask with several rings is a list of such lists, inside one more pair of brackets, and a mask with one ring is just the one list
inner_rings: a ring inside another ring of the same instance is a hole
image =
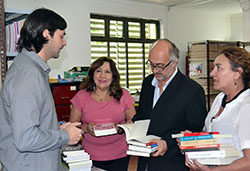
[[185, 73], [187, 42], [231, 40], [231, 16], [183, 8], [169, 10], [168, 35], [181, 50], [179, 67]]

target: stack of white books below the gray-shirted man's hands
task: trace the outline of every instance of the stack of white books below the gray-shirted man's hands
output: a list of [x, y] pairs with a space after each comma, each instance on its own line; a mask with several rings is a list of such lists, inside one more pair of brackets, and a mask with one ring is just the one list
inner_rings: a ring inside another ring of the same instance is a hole
[[69, 171], [91, 171], [92, 160], [81, 146], [67, 146], [62, 149], [63, 164]]

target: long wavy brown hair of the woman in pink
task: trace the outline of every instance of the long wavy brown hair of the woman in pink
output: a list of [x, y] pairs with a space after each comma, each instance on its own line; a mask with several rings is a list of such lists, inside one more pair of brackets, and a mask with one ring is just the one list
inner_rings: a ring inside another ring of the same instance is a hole
[[94, 73], [100, 66], [104, 64], [104, 62], [108, 62], [110, 64], [110, 69], [112, 72], [112, 82], [109, 87], [110, 96], [114, 97], [115, 100], [120, 102], [120, 99], [123, 95], [122, 88], [120, 86], [120, 74], [116, 68], [115, 62], [109, 57], [100, 57], [91, 64], [88, 70], [88, 75], [81, 83], [80, 89], [85, 89], [88, 92], [95, 91], [96, 84], [94, 82]]

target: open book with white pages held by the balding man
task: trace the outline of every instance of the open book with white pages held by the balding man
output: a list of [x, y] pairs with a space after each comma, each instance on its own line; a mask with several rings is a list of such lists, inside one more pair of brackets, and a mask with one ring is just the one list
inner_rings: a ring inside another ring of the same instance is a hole
[[133, 124], [119, 124], [117, 126], [125, 131], [128, 144], [148, 146], [151, 139], [161, 139], [156, 135], [147, 135], [149, 123], [150, 120], [146, 119], [135, 121]]

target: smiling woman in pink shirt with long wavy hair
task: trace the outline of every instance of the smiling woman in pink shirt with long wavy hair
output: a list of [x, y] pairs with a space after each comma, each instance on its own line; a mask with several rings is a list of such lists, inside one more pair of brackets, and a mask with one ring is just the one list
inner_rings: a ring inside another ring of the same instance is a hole
[[114, 61], [108, 57], [97, 59], [80, 89], [71, 100], [70, 122], [82, 122], [82, 146], [90, 154], [93, 166], [126, 171], [129, 158], [125, 134], [96, 137], [93, 131], [95, 124], [131, 122], [136, 113], [134, 98], [120, 86]]

